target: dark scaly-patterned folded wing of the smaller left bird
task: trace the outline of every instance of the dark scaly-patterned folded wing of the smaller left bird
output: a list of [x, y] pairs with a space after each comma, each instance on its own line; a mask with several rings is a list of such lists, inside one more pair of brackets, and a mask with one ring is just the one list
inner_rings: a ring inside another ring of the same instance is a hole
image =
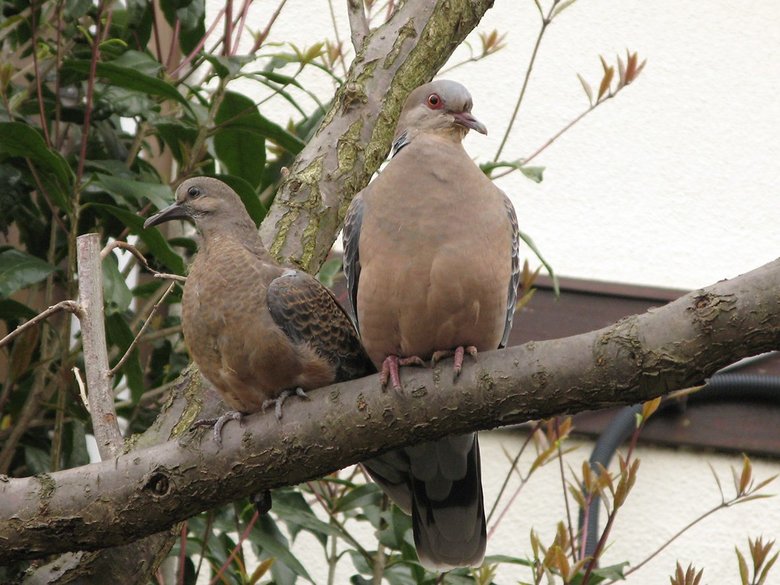
[[375, 371], [349, 315], [317, 279], [299, 270], [285, 271], [268, 286], [268, 310], [295, 344], [308, 344], [336, 366], [335, 382]]

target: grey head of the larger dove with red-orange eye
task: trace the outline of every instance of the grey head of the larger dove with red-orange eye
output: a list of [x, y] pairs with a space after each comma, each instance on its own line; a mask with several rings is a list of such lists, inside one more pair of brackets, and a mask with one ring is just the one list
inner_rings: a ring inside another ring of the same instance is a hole
[[[409, 94], [398, 118], [396, 139], [402, 134], [437, 132], [462, 139], [469, 130], [487, 134], [485, 125], [471, 115], [471, 94], [460, 83], [440, 79]], [[410, 137], [411, 138], [411, 137]]]

